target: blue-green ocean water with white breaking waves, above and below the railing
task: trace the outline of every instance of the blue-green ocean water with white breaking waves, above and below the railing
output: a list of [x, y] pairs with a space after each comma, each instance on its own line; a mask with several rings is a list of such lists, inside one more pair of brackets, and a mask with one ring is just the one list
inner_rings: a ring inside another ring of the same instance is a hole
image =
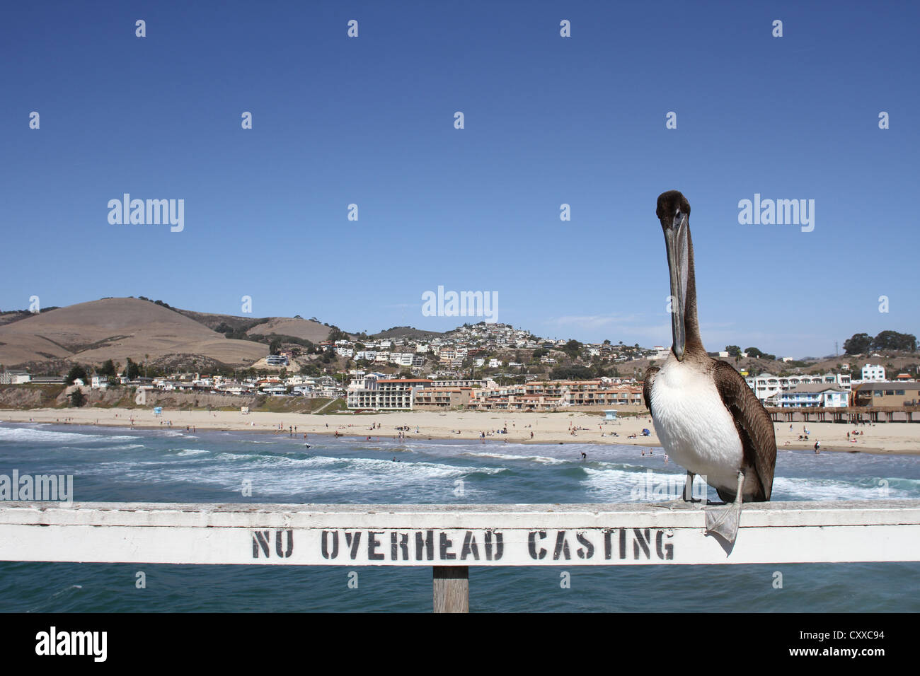
[[[648, 470], [683, 486], [661, 449], [301, 436], [0, 424], [0, 474], [74, 475], [76, 501], [114, 502], [625, 502]], [[920, 498], [920, 457], [778, 452], [775, 500], [884, 497]], [[916, 612], [918, 592], [920, 563], [470, 568], [473, 612]], [[0, 561], [0, 610], [430, 612], [431, 568]]]

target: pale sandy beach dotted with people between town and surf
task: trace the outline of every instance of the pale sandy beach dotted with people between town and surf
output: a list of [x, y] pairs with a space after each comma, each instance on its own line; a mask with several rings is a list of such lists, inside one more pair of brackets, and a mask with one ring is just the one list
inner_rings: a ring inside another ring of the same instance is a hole
[[[251, 430], [290, 436], [296, 427], [297, 436], [341, 434], [350, 437], [394, 438], [397, 428], [407, 439], [476, 440], [485, 434], [490, 441], [514, 443], [622, 443], [639, 446], [660, 446], [655, 427], [648, 416], [623, 418], [604, 422], [604, 418], [587, 413], [512, 413], [477, 411], [405, 411], [396, 413], [315, 416], [294, 413], [243, 414], [239, 411], [164, 409], [155, 417], [151, 409], [143, 408], [39, 408], [32, 410], [0, 410], [3, 422], [68, 423], [75, 425], [105, 425], [116, 427], [164, 428], [194, 430]], [[379, 427], [378, 427], [379, 425]], [[374, 429], [372, 429], [372, 427]], [[880, 423], [851, 425], [823, 423], [776, 423], [778, 448], [813, 450], [821, 441], [821, 451], [845, 453], [920, 454], [920, 425], [910, 423]], [[651, 435], [642, 436], [648, 429]], [[808, 430], [808, 441], [799, 435]], [[507, 430], [507, 433], [505, 433]], [[852, 434], [855, 430], [857, 435]], [[846, 433], [851, 433], [848, 441]]]

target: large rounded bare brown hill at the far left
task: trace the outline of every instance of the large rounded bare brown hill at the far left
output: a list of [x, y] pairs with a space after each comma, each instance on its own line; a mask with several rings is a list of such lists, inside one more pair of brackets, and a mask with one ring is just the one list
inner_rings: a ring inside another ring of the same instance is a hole
[[226, 364], [248, 365], [268, 346], [231, 340], [188, 316], [137, 298], [107, 298], [62, 307], [0, 326], [0, 363], [66, 359], [125, 363], [170, 354], [201, 354]]

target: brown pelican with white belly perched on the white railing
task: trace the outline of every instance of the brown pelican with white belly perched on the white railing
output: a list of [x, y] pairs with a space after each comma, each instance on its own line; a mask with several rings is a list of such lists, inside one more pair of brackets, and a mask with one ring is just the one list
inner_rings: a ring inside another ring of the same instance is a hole
[[684, 500], [694, 475], [705, 475], [730, 506], [707, 509], [707, 534], [730, 544], [743, 502], [766, 502], [773, 490], [773, 421], [741, 373], [703, 349], [696, 319], [696, 281], [690, 203], [677, 190], [661, 193], [655, 212], [664, 231], [671, 272], [673, 345], [661, 368], [645, 373], [643, 396], [661, 446], [687, 470]]

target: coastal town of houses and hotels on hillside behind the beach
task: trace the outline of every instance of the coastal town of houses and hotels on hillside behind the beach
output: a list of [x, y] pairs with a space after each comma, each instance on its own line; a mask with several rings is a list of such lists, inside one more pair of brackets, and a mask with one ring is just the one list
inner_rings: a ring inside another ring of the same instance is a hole
[[[338, 331], [330, 331], [335, 338]], [[558, 411], [582, 409], [644, 411], [642, 379], [649, 364], [670, 349], [622, 342], [581, 343], [538, 338], [505, 324], [464, 325], [442, 335], [326, 339], [316, 345], [274, 341], [270, 354], [234, 373], [173, 372], [144, 375], [149, 367], [128, 359], [75, 366], [67, 375], [0, 372], [0, 385], [66, 385], [87, 391], [130, 387], [140, 392], [265, 395], [340, 400], [341, 412], [473, 410]], [[750, 354], [749, 354], [750, 352]], [[893, 411], [894, 420], [920, 419], [916, 367], [889, 373], [879, 363], [841, 360], [819, 372], [814, 364], [776, 359], [757, 349], [727, 346], [710, 353], [736, 363], [770, 358], [783, 370], [742, 375], [765, 407], [775, 409], [866, 408]], [[862, 356], [862, 355], [859, 355]], [[880, 353], [868, 358], [881, 358]], [[811, 367], [811, 368], [810, 368]], [[914, 414], [914, 411], [916, 413]], [[790, 418], [791, 419], [791, 418]], [[886, 418], [888, 419], [888, 418]]]

